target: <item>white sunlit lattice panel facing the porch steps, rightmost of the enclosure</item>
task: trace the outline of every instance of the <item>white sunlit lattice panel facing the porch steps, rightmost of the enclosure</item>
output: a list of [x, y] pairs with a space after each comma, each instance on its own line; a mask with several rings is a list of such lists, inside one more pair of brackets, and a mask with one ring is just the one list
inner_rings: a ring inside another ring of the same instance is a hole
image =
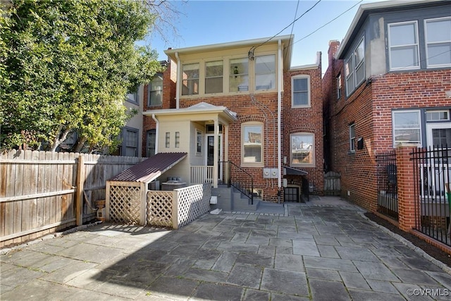
[[178, 190], [178, 226], [185, 226], [210, 209], [211, 184], [192, 185]]

